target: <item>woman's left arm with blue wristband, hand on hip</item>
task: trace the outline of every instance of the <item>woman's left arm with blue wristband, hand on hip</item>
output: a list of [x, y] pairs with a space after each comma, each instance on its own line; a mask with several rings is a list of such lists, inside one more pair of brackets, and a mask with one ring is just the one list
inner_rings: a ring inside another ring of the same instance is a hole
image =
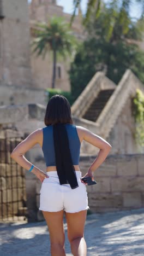
[[[32, 166], [32, 163], [25, 158], [24, 154], [29, 149], [31, 149], [35, 144], [40, 144], [41, 136], [43, 136], [41, 129], [35, 130], [31, 134], [29, 134], [27, 138], [21, 141], [14, 148], [13, 152], [11, 152], [11, 158], [13, 158], [17, 162], [17, 164], [19, 164], [26, 170], [29, 170]], [[34, 173], [40, 179], [41, 182], [43, 182], [43, 179], [47, 177], [47, 175], [36, 166], [34, 166], [31, 172]]]

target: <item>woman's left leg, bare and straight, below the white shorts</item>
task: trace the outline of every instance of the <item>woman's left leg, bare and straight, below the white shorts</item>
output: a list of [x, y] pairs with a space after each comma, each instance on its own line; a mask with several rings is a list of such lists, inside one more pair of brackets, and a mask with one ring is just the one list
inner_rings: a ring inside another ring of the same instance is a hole
[[64, 227], [63, 227], [63, 210], [59, 212], [46, 212], [43, 211], [46, 220], [51, 242], [51, 255], [52, 256], [65, 256], [64, 250]]

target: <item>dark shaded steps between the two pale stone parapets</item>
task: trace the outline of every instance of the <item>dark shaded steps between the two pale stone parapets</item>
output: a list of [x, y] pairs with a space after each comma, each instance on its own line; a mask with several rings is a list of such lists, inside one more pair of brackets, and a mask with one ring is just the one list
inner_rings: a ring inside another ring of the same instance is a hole
[[107, 101], [113, 94], [114, 89], [102, 90], [99, 92], [98, 96], [93, 100], [86, 113], [82, 116], [90, 121], [97, 121], [101, 111], [104, 109]]

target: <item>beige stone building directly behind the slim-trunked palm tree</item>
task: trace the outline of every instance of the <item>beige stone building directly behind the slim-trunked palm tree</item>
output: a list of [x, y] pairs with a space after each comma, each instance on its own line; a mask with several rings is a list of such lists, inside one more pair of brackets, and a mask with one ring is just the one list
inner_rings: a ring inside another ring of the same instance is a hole
[[[67, 22], [70, 21], [71, 15], [63, 12], [63, 7], [57, 5], [56, 0], [32, 0], [29, 4], [30, 30], [36, 22], [47, 22], [52, 16], [62, 16]], [[82, 16], [75, 16], [71, 30], [77, 39], [84, 38], [82, 27]], [[32, 38], [31, 38], [32, 39]], [[70, 60], [58, 60], [56, 67], [56, 88], [70, 91], [69, 70]], [[43, 60], [41, 56], [31, 55], [31, 67], [33, 84], [37, 88], [51, 88], [52, 80], [52, 57], [46, 54]]]

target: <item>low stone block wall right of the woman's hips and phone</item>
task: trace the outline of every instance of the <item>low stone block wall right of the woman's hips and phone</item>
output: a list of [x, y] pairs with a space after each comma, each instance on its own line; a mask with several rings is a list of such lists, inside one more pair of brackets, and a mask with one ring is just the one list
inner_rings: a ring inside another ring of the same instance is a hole
[[[96, 185], [87, 186], [92, 212], [130, 210], [144, 207], [143, 154], [109, 155], [95, 170]], [[95, 156], [81, 156], [84, 175]]]

